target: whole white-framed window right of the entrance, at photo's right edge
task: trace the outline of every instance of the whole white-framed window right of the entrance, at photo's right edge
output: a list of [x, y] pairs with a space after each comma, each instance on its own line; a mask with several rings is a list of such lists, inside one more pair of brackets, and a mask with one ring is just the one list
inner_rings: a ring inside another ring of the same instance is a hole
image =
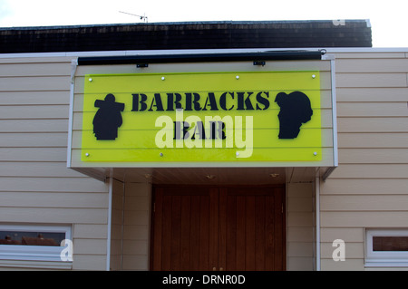
[[366, 266], [408, 266], [408, 229], [367, 229]]

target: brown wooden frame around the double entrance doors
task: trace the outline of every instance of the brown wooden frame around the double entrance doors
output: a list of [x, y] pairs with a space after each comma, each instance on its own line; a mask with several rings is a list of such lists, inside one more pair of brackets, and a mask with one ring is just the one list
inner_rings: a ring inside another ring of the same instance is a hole
[[[155, 224], [155, 203], [156, 203], [156, 188], [214, 188], [217, 190], [220, 190], [221, 188], [282, 188], [282, 251], [283, 251], [283, 255], [282, 255], [282, 267], [283, 270], [287, 270], [287, 213], [286, 213], [286, 194], [287, 194], [287, 189], [286, 189], [286, 184], [278, 184], [278, 185], [258, 185], [258, 186], [254, 186], [254, 185], [186, 185], [186, 184], [181, 184], [181, 185], [174, 185], [174, 184], [170, 184], [170, 185], [163, 185], [163, 184], [158, 184], [158, 185], [152, 185], [152, 189], [151, 189], [151, 226], [150, 226], [150, 242], [149, 242], [149, 268], [150, 270], [153, 270], [153, 263], [154, 263], [154, 224]], [[217, 200], [217, 203], [219, 203], [219, 200]], [[214, 222], [217, 222], [218, 226], [219, 226], [219, 215], [217, 215], [216, 218], [212, 219]], [[219, 231], [219, 228], [217, 227], [217, 231]], [[217, 233], [217, 237], [214, 238], [213, 240], [214, 243], [217, 243], [217, 246], [219, 246], [219, 232]], [[213, 246], [216, 246], [215, 244], [213, 244]], [[212, 253], [212, 255], [210, 255], [210, 259], [215, 259], [215, 258], [219, 258], [219, 253], [217, 251], [217, 255], [215, 255], [214, 251], [216, 250], [212, 250], [210, 251], [209, 254]]]

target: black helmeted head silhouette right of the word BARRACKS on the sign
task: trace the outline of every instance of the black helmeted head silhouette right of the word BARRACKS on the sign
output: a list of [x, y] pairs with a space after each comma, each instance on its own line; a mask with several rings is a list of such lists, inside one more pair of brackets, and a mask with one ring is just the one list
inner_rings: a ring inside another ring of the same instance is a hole
[[279, 92], [275, 102], [280, 107], [279, 139], [296, 139], [302, 123], [311, 120], [313, 115], [309, 98], [303, 92]]

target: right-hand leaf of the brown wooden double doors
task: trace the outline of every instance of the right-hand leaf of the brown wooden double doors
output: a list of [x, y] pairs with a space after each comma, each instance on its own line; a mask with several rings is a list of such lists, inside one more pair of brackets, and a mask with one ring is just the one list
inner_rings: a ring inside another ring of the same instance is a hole
[[283, 188], [220, 188], [219, 269], [284, 270], [283, 193]]

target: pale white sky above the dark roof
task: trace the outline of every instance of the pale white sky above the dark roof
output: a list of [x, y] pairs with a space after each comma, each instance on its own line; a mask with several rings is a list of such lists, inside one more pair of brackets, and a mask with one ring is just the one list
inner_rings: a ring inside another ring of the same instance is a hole
[[408, 47], [407, 7], [406, 0], [0, 0], [0, 27], [367, 19], [373, 47], [398, 48]]

